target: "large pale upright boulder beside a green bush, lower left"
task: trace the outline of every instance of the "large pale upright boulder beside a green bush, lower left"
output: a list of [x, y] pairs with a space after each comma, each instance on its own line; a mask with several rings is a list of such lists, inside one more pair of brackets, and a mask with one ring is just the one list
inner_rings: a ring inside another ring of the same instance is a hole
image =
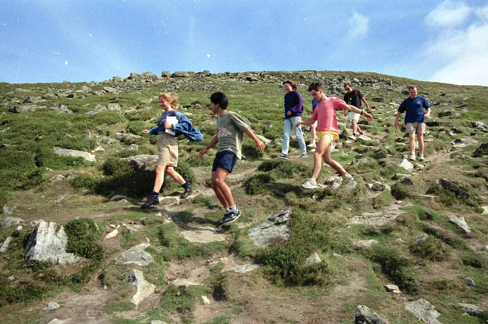
[[73, 253], [66, 253], [68, 238], [62, 226], [57, 233], [56, 227], [54, 222], [38, 223], [27, 239], [25, 262], [36, 260], [65, 264], [84, 260]]

